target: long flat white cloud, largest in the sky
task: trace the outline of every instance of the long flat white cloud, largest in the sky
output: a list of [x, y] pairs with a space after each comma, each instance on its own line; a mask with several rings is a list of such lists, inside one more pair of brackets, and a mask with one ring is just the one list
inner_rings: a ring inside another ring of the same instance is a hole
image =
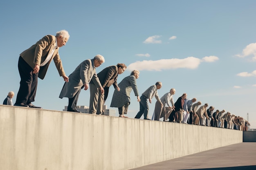
[[195, 69], [198, 68], [201, 60], [196, 57], [187, 57], [184, 59], [161, 59], [161, 60], [144, 60], [137, 61], [130, 64], [128, 70], [147, 70], [147, 71], [162, 71], [167, 69], [176, 69], [176, 68], [189, 68]]

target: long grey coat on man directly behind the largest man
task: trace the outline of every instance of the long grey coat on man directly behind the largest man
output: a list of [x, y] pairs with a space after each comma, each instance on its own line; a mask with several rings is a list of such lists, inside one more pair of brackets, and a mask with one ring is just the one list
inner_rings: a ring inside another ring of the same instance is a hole
[[97, 77], [96, 68], [94, 67], [94, 60], [85, 60], [79, 64], [73, 73], [69, 76], [69, 82], [65, 82], [60, 98], [72, 98], [79, 91], [84, 84], [90, 83], [93, 80], [96, 87], [102, 87]]

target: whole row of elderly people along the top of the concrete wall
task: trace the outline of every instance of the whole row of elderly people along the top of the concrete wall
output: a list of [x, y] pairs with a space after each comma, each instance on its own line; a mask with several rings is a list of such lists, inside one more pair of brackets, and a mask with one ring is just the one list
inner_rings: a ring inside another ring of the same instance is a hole
[[[196, 98], [186, 99], [186, 93], [179, 97], [177, 102], [173, 103], [173, 95], [175, 94], [174, 88], [172, 88], [170, 92], [166, 93], [163, 97], [159, 98], [157, 90], [162, 87], [161, 82], [157, 82], [155, 85], [150, 86], [144, 93], [142, 93], [141, 97], [139, 97], [136, 84], [136, 79], [139, 78], [139, 71], [132, 71], [130, 76], [125, 77], [119, 84], [117, 84], [117, 76], [124, 73], [126, 65], [117, 64], [116, 66], [109, 66], [97, 74], [96, 68], [105, 62], [102, 55], [96, 55], [93, 59], [81, 62], [74, 72], [67, 77], [62, 66], [61, 58], [58, 54], [58, 49], [65, 46], [69, 38], [69, 33], [66, 30], [61, 30], [58, 31], [55, 36], [44, 36], [36, 42], [36, 44], [32, 45], [29, 49], [20, 54], [18, 60], [18, 71], [20, 73], [21, 80], [14, 106], [42, 108], [34, 106], [31, 102], [35, 101], [38, 77], [40, 79], [44, 79], [50, 62], [54, 60], [59, 75], [62, 76], [65, 81], [59, 97], [68, 98], [69, 104], [67, 111], [78, 112], [76, 109], [76, 103], [81, 89], [84, 88], [84, 90], [88, 90], [90, 86], [89, 113], [102, 115], [103, 105], [108, 97], [108, 89], [113, 84], [115, 91], [110, 107], [117, 107], [120, 117], [127, 117], [125, 115], [127, 114], [128, 106], [130, 105], [130, 92], [133, 90], [135, 96], [137, 96], [137, 101], [140, 106], [139, 112], [135, 116], [137, 119], [142, 115], [144, 115], [144, 119], [149, 119], [148, 101], [151, 103], [151, 99], [155, 97], [157, 99], [154, 111], [155, 120], [159, 120], [164, 117], [164, 121], [169, 119], [169, 121], [176, 121], [179, 123], [189, 122], [190, 124], [208, 126], [211, 122], [212, 126], [216, 127], [217, 124], [218, 127], [225, 126], [226, 117], [227, 122], [230, 122], [231, 119], [233, 120], [233, 117], [234, 121], [232, 122], [235, 122], [235, 116], [233, 115], [225, 114], [225, 116], [223, 115], [221, 117], [220, 115], [224, 113], [223, 110], [221, 112], [216, 110], [215, 114], [213, 113], [211, 115], [212, 119], [210, 120], [210, 117], [206, 112], [208, 104], [198, 108], [201, 102], [193, 104], [193, 102], [196, 101]], [[4, 104], [9, 104], [11, 102], [12, 105], [11, 98], [13, 95], [14, 93], [10, 92], [6, 100], [4, 100]], [[169, 104], [169, 101], [171, 101], [172, 106]], [[167, 105], [167, 107], [165, 107], [165, 105]], [[214, 110], [212, 106], [209, 109], [211, 112]], [[237, 118], [236, 120], [239, 119], [240, 118]], [[237, 125], [237, 123], [235, 125]], [[228, 127], [231, 128], [232, 125], [229, 124]]]

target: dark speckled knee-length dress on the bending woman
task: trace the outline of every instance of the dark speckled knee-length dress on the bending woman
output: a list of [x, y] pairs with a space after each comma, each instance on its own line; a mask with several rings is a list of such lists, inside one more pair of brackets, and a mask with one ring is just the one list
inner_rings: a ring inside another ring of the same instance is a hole
[[127, 103], [130, 103], [130, 93], [133, 89], [135, 96], [139, 96], [138, 88], [136, 85], [136, 78], [134, 75], [125, 77], [118, 84], [120, 91], [115, 89], [110, 107], [121, 108]]

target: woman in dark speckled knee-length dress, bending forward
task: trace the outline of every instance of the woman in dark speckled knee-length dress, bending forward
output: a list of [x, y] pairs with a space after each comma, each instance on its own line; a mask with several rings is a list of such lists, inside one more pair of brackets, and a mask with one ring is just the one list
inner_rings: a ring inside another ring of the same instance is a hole
[[139, 78], [139, 71], [134, 70], [131, 74], [125, 77], [119, 84], [120, 91], [115, 89], [110, 107], [116, 107], [119, 111], [119, 117], [126, 117], [128, 106], [130, 105], [130, 93], [133, 90], [137, 101], [140, 101], [139, 92], [136, 84], [136, 79]]

